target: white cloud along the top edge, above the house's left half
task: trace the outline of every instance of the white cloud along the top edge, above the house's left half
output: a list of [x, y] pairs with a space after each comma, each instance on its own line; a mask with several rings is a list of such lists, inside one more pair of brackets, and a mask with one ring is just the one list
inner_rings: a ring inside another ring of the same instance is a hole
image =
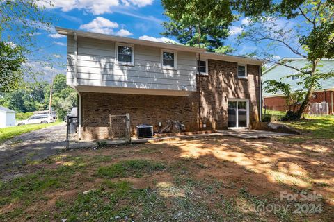
[[[73, 9], [83, 9], [93, 15], [101, 15], [113, 12], [113, 8], [117, 6], [137, 6], [144, 7], [152, 4], [153, 0], [54, 0], [54, 8], [61, 8], [63, 12]], [[47, 1], [39, 1], [40, 6], [52, 8]]]

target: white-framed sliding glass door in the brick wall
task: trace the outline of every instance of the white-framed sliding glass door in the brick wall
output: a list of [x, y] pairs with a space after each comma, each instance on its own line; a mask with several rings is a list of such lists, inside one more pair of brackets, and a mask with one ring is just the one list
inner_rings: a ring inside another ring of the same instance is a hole
[[248, 128], [248, 99], [228, 99], [228, 128]]

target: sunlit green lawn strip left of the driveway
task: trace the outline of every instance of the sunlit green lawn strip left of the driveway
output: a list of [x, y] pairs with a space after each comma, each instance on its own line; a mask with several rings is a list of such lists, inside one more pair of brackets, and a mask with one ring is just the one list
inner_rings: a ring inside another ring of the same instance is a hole
[[7, 128], [0, 129], [0, 141], [13, 138], [17, 135], [21, 135], [22, 133], [28, 133], [33, 130], [39, 130], [41, 128], [46, 128], [48, 126], [55, 126], [61, 121], [57, 121], [55, 123], [48, 123], [48, 124], [32, 124], [32, 125], [24, 125], [24, 126], [12, 126]]

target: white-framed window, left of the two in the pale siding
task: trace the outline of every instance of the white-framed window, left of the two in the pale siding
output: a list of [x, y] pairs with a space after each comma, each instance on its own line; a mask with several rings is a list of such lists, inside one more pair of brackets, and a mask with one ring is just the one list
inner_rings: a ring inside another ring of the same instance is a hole
[[134, 65], [134, 45], [116, 43], [116, 63], [118, 65]]

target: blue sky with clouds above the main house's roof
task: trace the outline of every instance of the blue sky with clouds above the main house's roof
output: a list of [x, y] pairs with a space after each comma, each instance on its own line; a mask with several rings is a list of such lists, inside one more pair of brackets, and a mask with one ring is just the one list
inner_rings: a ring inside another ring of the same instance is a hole
[[[164, 31], [161, 22], [168, 20], [168, 17], [163, 15], [164, 9], [157, 0], [54, 0], [53, 7], [46, 3], [45, 6], [47, 8], [45, 13], [52, 18], [54, 26], [144, 40], [166, 40], [160, 33]], [[251, 43], [239, 46], [235, 44], [235, 37], [242, 31], [241, 24], [247, 22], [247, 19], [241, 18], [230, 27], [231, 36], [228, 37], [226, 44], [236, 49], [234, 55], [250, 53], [258, 47]], [[45, 55], [54, 58], [53, 67], [38, 65], [35, 69], [47, 76], [56, 73], [65, 74], [66, 37], [58, 35], [54, 29], [41, 30], [35, 35], [38, 47], [41, 49], [31, 55], [31, 58]], [[275, 53], [277, 58], [294, 56], [285, 49], [279, 49]]]

